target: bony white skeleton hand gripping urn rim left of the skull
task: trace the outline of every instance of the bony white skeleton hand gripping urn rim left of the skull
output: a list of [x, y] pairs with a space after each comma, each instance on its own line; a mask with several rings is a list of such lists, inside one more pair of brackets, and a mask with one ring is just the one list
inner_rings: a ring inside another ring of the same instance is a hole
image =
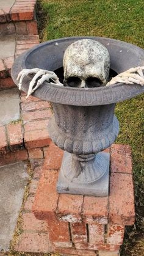
[[[27, 92], [28, 98], [41, 84], [43, 84], [44, 81], [48, 81], [51, 84], [57, 84], [57, 86], [63, 86], [61, 82], [59, 81], [59, 78], [57, 75], [48, 70], [41, 70], [40, 68], [32, 68], [32, 69], [23, 69], [18, 74], [18, 77], [16, 80], [19, 80], [18, 88], [21, 90], [21, 85], [23, 82], [24, 76], [27, 76], [29, 74], [35, 74], [34, 78], [32, 78], [32, 81], [29, 83], [29, 90]], [[51, 82], [51, 80], [53, 82]], [[35, 86], [35, 87], [34, 87]]]

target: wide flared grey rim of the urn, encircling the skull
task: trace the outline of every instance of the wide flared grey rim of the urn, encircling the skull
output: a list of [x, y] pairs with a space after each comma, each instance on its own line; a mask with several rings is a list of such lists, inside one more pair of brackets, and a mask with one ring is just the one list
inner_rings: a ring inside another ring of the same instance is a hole
[[[26, 51], [24, 54], [21, 54], [15, 60], [12, 67], [11, 73], [13, 81], [15, 81], [15, 83], [18, 85], [16, 77], [18, 76], [18, 73], [23, 70], [23, 68], [29, 68], [30, 66], [31, 68], [36, 68], [35, 63], [38, 63], [40, 56], [37, 56], [37, 61], [34, 63], [32, 63], [31, 57], [36, 55], [35, 53], [38, 53], [38, 51], [41, 51], [41, 49], [50, 49], [50, 47], [51, 49], [54, 49], [53, 53], [52, 51], [51, 53], [48, 51], [48, 54], [50, 54], [49, 56], [52, 59], [52, 57], [56, 57], [56, 53], [58, 54], [59, 51], [63, 51], [63, 49], [67, 48], [67, 46], [72, 42], [82, 38], [97, 40], [106, 46], [110, 53], [110, 67], [117, 73], [128, 70], [132, 66], [137, 67], [144, 65], [144, 50], [130, 43], [104, 37], [67, 37], [40, 43], [39, 45]], [[51, 62], [51, 59], [49, 62]], [[40, 66], [38, 68], [54, 71], [56, 70], [55, 66], [58, 65], [57, 67], [59, 67], [60, 64], [62, 67], [62, 56], [59, 57], [57, 63], [53, 64], [53, 67], [51, 64], [49, 69]], [[21, 88], [24, 90], [24, 92], [27, 92], [31, 78], [32, 76], [26, 76], [26, 78], [23, 79]], [[140, 86], [138, 84], [118, 83], [114, 84], [113, 86], [89, 88], [86, 90], [73, 87], [56, 86], [54, 84], [50, 84], [49, 82], [44, 82], [32, 95], [42, 100], [51, 101], [54, 103], [75, 106], [97, 106], [128, 100], [129, 98], [135, 97], [143, 92], [144, 86]]]

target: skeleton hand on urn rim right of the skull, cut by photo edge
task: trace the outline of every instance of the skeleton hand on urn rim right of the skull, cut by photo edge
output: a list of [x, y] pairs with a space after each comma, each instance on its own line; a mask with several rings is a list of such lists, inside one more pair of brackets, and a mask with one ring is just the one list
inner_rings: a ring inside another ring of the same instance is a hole
[[106, 86], [112, 86], [112, 84], [117, 84], [117, 82], [123, 82], [124, 84], [140, 84], [144, 86], [144, 76], [143, 67], [130, 68], [129, 70], [120, 73], [107, 82]]

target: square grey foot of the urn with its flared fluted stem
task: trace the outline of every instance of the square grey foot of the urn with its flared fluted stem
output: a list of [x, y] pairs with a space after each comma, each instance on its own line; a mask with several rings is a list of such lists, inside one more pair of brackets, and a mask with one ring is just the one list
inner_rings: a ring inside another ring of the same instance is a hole
[[64, 152], [57, 192], [87, 196], [108, 196], [110, 154], [76, 156]]

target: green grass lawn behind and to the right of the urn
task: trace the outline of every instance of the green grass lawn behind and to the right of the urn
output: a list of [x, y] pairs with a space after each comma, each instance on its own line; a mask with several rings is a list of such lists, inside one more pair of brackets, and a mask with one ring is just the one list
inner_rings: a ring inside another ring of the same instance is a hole
[[[110, 37], [144, 48], [143, 0], [40, 0], [41, 41], [74, 35]], [[117, 142], [132, 147], [136, 222], [126, 228], [121, 255], [144, 255], [143, 96], [117, 104]]]

